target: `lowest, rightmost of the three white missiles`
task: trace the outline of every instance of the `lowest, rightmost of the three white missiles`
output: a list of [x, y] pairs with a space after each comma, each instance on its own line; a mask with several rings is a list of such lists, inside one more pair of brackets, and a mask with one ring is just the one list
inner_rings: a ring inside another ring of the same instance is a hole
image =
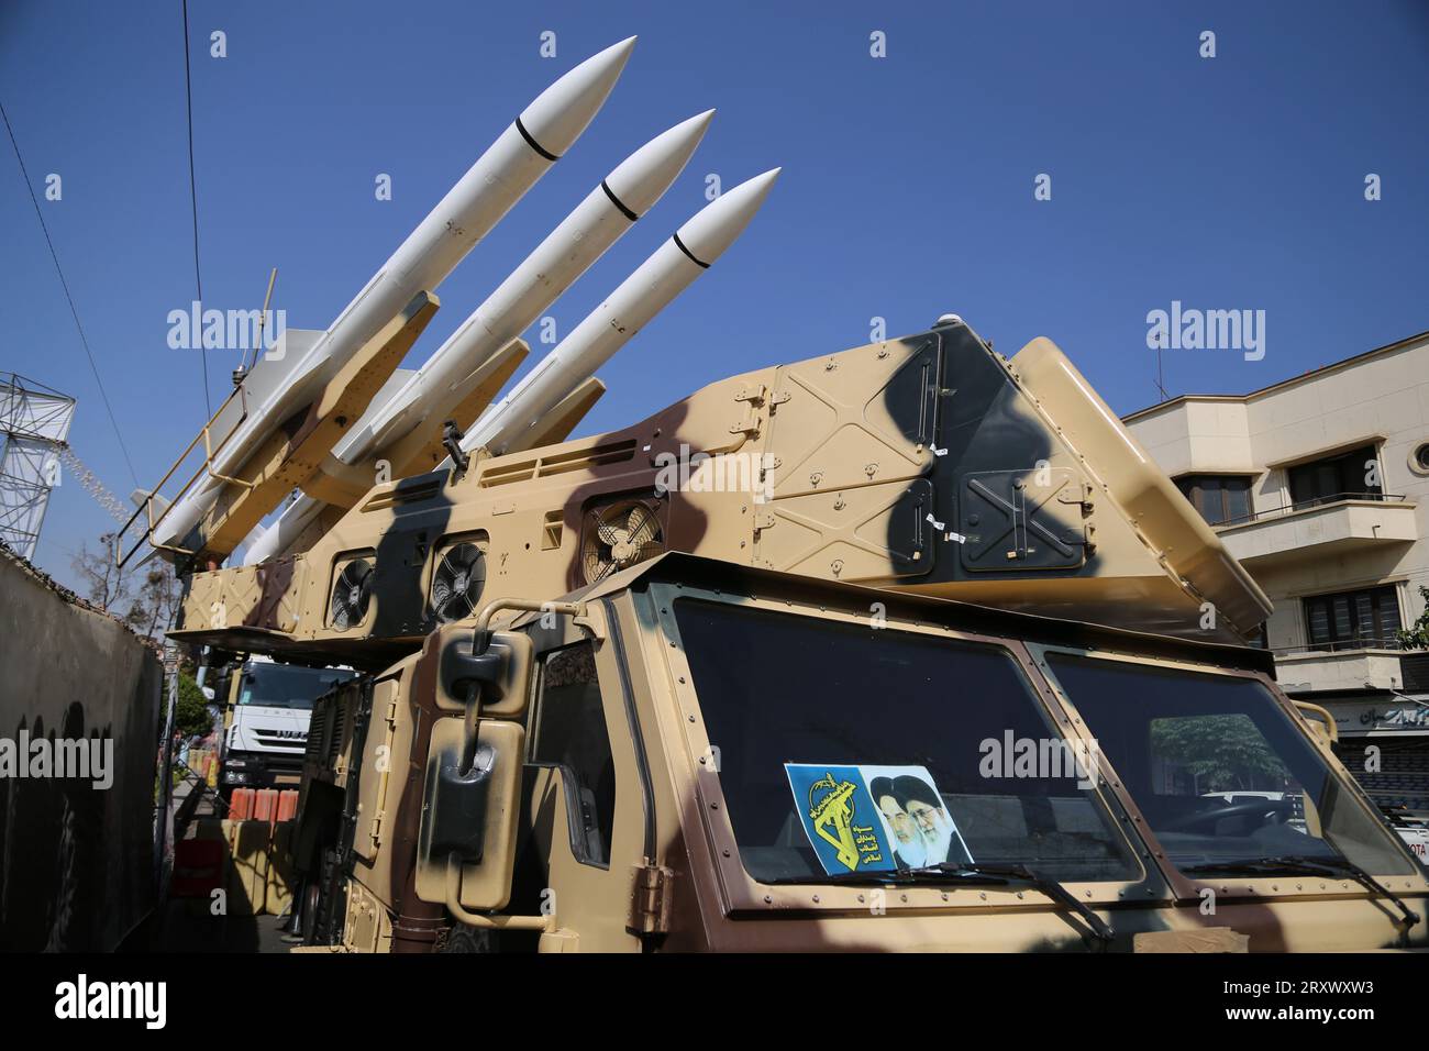
[[755, 217], [780, 169], [740, 183], [706, 204], [570, 330], [532, 372], [482, 416], [462, 449], [500, 456], [529, 448], [542, 419], [699, 277]]

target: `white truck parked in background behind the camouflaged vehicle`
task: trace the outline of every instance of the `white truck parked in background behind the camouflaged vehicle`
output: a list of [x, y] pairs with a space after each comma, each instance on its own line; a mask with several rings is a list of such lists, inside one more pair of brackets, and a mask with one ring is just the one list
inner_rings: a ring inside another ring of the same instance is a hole
[[297, 788], [313, 701], [356, 675], [349, 668], [304, 668], [249, 656], [230, 666], [219, 791]]

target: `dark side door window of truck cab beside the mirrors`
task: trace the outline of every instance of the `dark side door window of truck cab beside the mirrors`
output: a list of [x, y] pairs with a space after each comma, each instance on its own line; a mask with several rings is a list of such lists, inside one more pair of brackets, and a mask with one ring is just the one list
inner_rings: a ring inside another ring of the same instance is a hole
[[616, 818], [616, 764], [590, 642], [557, 649], [542, 662], [530, 751], [533, 765], [560, 769], [576, 861], [604, 868]]

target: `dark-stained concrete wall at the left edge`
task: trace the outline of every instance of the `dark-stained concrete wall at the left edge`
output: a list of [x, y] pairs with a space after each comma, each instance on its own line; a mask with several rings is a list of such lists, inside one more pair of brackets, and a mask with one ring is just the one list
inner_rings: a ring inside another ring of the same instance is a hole
[[0, 738], [113, 739], [113, 784], [0, 776], [0, 949], [111, 949], [153, 908], [163, 665], [0, 549]]

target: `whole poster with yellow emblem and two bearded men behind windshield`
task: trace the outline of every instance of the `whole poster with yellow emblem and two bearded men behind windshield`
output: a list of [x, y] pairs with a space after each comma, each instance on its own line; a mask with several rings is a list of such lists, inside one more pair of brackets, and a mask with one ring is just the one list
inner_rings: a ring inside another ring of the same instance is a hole
[[786, 762], [785, 774], [829, 875], [973, 859], [925, 766]]

